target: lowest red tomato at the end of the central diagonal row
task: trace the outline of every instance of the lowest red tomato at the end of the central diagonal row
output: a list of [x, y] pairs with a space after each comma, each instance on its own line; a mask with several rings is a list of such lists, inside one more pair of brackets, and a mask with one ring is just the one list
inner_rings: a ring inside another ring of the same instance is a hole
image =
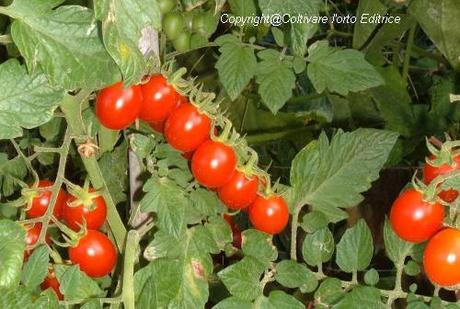
[[288, 224], [289, 208], [284, 198], [279, 195], [259, 195], [249, 206], [249, 220], [259, 231], [278, 234]]

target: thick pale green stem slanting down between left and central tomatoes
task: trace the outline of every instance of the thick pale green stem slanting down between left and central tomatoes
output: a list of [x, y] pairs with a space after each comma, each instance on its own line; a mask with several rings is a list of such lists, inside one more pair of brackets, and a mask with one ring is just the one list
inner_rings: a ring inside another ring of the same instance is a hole
[[[78, 99], [81, 99], [82, 101]], [[78, 97], [67, 95], [61, 104], [61, 110], [63, 111], [72, 135], [74, 136], [84, 136], [86, 134], [86, 129], [81, 118], [80, 110], [82, 102], [86, 100], [86, 93], [82, 93]], [[120, 215], [118, 214], [115, 202], [109, 193], [97, 159], [95, 156], [85, 157], [81, 154], [80, 157], [83, 161], [86, 171], [88, 172], [88, 176], [93, 186], [95, 188], [102, 189], [102, 195], [107, 203], [107, 222], [109, 223], [110, 229], [112, 230], [113, 236], [115, 237], [119, 251], [123, 252], [126, 228], [120, 218]]]

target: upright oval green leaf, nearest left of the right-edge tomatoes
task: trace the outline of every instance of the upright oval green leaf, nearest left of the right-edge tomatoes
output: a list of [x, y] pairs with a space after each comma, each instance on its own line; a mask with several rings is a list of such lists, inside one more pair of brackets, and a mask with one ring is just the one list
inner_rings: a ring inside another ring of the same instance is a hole
[[372, 234], [366, 221], [360, 219], [346, 230], [337, 244], [337, 265], [345, 272], [364, 270], [374, 254]]

